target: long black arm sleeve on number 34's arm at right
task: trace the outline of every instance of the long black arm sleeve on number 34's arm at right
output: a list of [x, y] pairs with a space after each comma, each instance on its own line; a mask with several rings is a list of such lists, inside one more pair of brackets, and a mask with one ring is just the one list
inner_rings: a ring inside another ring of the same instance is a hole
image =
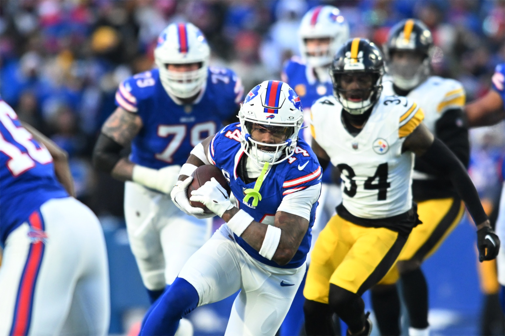
[[467, 170], [444, 143], [435, 138], [433, 144], [428, 148], [422, 158], [427, 164], [430, 164], [439, 171], [440, 174], [450, 179], [460, 197], [465, 201], [465, 205], [475, 225], [479, 225], [487, 220], [487, 215], [480, 203], [479, 194], [470, 176], [468, 176]]

